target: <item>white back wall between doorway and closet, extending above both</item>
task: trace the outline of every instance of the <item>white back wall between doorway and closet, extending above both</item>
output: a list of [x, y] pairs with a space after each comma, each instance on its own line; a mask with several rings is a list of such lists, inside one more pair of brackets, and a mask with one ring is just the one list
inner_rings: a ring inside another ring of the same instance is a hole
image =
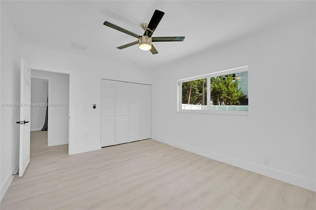
[[[148, 74], [133, 66], [28, 44], [21, 45], [21, 53], [33, 69], [70, 72], [70, 154], [101, 148], [101, 78], [151, 83], [151, 77]], [[95, 109], [93, 109], [93, 104], [96, 104]]]

